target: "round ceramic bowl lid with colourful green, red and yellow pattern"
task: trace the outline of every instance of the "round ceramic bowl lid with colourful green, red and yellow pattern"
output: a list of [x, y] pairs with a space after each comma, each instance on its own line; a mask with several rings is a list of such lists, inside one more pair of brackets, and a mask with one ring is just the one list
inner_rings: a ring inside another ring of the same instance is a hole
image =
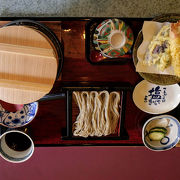
[[134, 41], [133, 32], [128, 25], [119, 19], [106, 19], [100, 23], [93, 36], [96, 50], [109, 58], [126, 54]]

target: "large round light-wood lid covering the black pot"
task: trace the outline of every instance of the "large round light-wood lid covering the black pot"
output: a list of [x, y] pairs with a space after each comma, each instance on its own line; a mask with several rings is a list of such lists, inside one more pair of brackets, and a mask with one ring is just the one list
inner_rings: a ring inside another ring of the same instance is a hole
[[27, 104], [49, 93], [57, 74], [56, 52], [32, 28], [0, 28], [0, 99]]

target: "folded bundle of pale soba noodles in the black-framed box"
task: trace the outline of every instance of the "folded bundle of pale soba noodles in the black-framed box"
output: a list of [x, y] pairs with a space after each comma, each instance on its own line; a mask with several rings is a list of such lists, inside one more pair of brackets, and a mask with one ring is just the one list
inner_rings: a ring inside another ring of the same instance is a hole
[[79, 107], [74, 136], [107, 136], [115, 133], [119, 120], [120, 94], [108, 91], [73, 92]]

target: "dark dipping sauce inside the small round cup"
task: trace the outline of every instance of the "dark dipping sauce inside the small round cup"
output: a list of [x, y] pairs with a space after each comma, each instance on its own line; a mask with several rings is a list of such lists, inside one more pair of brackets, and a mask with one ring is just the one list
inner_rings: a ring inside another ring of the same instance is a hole
[[25, 151], [31, 146], [29, 138], [21, 133], [12, 132], [5, 135], [5, 141], [10, 149]]

